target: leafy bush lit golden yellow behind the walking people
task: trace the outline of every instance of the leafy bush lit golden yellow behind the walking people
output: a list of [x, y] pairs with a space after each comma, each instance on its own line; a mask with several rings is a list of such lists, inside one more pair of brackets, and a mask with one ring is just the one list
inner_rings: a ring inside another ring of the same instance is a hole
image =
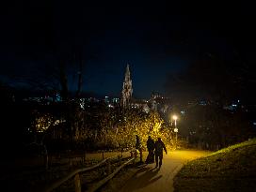
[[143, 149], [146, 149], [148, 137], [151, 135], [153, 140], [160, 137], [167, 146], [172, 145], [172, 132], [164, 126], [164, 121], [157, 112], [146, 114], [139, 111], [125, 111], [121, 121], [114, 127], [106, 126], [107, 123], [104, 123], [102, 140], [105, 140], [105, 144], [131, 148], [135, 146], [138, 135]]

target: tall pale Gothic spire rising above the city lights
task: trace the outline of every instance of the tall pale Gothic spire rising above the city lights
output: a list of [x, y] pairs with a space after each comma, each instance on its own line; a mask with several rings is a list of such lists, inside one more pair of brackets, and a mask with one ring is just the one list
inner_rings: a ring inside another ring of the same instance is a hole
[[130, 68], [129, 68], [129, 64], [127, 64], [124, 81], [122, 83], [122, 91], [121, 91], [121, 106], [123, 108], [129, 108], [132, 94], [133, 94], [133, 87], [132, 87], [132, 80], [130, 77]]

